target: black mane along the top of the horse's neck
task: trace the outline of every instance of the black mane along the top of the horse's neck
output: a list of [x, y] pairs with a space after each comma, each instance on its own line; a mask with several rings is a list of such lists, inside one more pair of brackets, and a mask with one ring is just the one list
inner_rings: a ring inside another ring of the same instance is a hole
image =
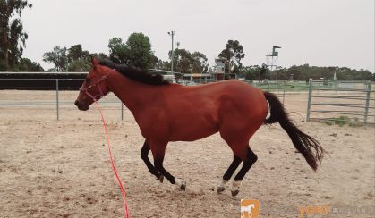
[[116, 64], [108, 60], [100, 61], [100, 65], [107, 66], [111, 69], [115, 69], [115, 71], [120, 72], [125, 77], [139, 81], [141, 83], [153, 85], [153, 86], [162, 86], [170, 84], [168, 80], [165, 80], [163, 76], [159, 73], [152, 74], [149, 71], [141, 70], [140, 68], [126, 65], [126, 64]]

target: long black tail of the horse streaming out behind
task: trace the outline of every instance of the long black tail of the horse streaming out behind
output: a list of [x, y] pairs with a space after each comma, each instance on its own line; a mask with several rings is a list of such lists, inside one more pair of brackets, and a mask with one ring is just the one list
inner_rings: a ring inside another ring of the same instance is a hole
[[294, 123], [291, 122], [286, 114], [286, 109], [278, 100], [277, 96], [269, 92], [265, 92], [264, 96], [266, 96], [269, 103], [271, 113], [270, 117], [266, 119], [265, 123], [280, 123], [281, 127], [286, 130], [289, 138], [292, 139], [294, 147], [301, 154], [303, 154], [307, 163], [314, 171], [316, 171], [318, 168], [318, 163], [320, 164], [321, 159], [323, 158], [323, 147], [320, 146], [320, 143], [316, 139], [303, 133], [303, 131], [299, 130]]

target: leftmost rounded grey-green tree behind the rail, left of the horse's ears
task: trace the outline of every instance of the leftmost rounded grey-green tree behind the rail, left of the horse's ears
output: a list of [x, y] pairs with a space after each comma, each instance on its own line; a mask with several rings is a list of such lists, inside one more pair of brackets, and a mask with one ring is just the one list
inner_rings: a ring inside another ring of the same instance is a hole
[[43, 55], [43, 61], [53, 63], [55, 71], [67, 71], [68, 56], [66, 55], [66, 47], [55, 46], [53, 51], [46, 52]]

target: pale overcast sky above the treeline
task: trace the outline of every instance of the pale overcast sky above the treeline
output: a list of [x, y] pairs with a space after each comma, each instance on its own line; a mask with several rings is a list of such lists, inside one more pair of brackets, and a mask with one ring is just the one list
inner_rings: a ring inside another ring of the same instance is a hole
[[29, 34], [23, 56], [40, 63], [54, 46], [81, 44], [108, 54], [110, 38], [149, 37], [167, 60], [171, 37], [180, 48], [205, 54], [212, 66], [228, 39], [243, 46], [243, 65], [266, 63], [272, 46], [278, 65], [309, 63], [374, 72], [374, 0], [29, 0], [21, 19]]

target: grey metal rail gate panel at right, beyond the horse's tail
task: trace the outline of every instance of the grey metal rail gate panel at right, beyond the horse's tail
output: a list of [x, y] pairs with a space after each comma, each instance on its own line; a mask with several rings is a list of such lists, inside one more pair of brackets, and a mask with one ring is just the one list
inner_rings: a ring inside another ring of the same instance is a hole
[[371, 81], [310, 80], [306, 120], [375, 123]]

